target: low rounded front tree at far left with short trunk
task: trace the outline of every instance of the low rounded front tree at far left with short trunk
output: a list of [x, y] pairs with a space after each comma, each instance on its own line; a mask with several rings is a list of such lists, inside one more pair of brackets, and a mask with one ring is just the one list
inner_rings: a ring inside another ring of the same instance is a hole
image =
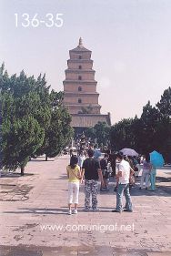
[[24, 175], [25, 166], [30, 156], [43, 143], [44, 128], [33, 117], [9, 119], [3, 122], [3, 164], [5, 169], [21, 168]]

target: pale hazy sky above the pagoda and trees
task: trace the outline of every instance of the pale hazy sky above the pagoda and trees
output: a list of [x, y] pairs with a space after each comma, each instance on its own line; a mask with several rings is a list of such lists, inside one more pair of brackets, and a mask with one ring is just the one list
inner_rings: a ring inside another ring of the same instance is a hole
[[[24, 27], [25, 13], [46, 21], [49, 13], [63, 14], [63, 26]], [[101, 112], [110, 112], [113, 124], [140, 117], [171, 84], [170, 14], [170, 0], [0, 0], [0, 63], [9, 75], [45, 73], [48, 85], [63, 90], [69, 50], [82, 36], [92, 50]]]

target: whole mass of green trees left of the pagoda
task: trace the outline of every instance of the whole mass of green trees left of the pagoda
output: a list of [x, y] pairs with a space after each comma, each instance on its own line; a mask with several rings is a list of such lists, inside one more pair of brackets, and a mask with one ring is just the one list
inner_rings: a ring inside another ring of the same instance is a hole
[[21, 168], [31, 156], [55, 157], [72, 136], [71, 118], [62, 105], [63, 94], [50, 92], [45, 75], [35, 79], [22, 71], [9, 77], [0, 68], [2, 151], [5, 169]]

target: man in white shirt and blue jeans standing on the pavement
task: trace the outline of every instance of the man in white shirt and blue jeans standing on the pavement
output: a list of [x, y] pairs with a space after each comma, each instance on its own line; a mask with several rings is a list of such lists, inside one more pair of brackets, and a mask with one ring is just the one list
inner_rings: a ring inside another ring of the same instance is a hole
[[124, 156], [121, 152], [116, 154], [116, 160], [119, 162], [117, 179], [118, 179], [118, 188], [116, 191], [116, 210], [112, 212], [121, 212], [122, 208], [122, 198], [123, 194], [126, 197], [126, 209], [124, 211], [132, 212], [132, 201], [129, 193], [129, 177], [131, 172], [131, 167], [129, 163], [124, 159]]

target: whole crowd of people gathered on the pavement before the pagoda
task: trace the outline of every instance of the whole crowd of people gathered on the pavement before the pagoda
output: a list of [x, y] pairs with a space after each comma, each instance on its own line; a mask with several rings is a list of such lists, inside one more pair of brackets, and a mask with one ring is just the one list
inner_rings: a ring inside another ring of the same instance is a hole
[[[90, 147], [81, 150], [78, 155], [70, 151], [70, 164], [66, 167], [68, 177], [68, 214], [77, 213], [79, 186], [85, 187], [85, 211], [97, 211], [98, 180], [100, 190], [109, 190], [109, 178], [116, 179], [116, 209], [112, 212], [133, 211], [130, 190], [136, 183], [136, 176], [140, 164], [143, 165], [139, 189], [143, 189], [146, 181], [146, 189], [156, 189], [156, 168], [150, 162], [149, 155], [140, 158], [124, 156], [122, 152], [110, 154], [106, 151], [101, 157], [99, 148]], [[150, 181], [150, 186], [149, 186]], [[126, 205], [122, 206], [122, 198], [125, 195]], [[74, 204], [74, 210], [72, 205]]]

